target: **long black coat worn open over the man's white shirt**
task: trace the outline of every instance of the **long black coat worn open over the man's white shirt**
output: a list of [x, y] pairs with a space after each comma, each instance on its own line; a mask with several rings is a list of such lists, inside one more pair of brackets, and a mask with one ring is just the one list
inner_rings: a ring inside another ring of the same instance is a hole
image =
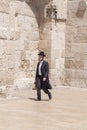
[[[38, 82], [38, 72], [39, 72], [39, 63], [37, 64], [37, 69], [36, 69], [36, 83]], [[41, 89], [44, 87], [44, 85], [47, 87], [47, 89], [52, 89], [51, 84], [49, 83], [49, 64], [46, 61], [43, 61], [42, 66], [41, 66], [41, 73], [42, 73], [42, 78], [46, 78], [46, 81], [43, 82], [43, 85], [41, 86]]]

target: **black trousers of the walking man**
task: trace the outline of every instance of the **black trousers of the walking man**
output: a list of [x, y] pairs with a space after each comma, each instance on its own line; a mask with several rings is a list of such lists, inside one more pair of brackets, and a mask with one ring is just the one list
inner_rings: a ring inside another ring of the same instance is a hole
[[43, 77], [38, 76], [37, 77], [37, 81], [36, 81], [36, 87], [37, 87], [37, 98], [38, 100], [41, 100], [41, 89], [48, 94], [48, 97], [51, 97], [51, 93], [49, 92], [49, 90], [46, 87], [46, 82], [47, 81], [43, 81]]

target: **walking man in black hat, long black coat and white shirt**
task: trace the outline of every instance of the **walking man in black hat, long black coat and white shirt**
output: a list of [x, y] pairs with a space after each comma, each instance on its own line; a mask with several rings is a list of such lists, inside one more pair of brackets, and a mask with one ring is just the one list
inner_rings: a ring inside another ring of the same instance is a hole
[[48, 89], [52, 89], [49, 83], [49, 65], [48, 62], [44, 61], [45, 54], [41, 51], [38, 54], [38, 64], [36, 70], [36, 89], [37, 89], [37, 101], [41, 101], [41, 89], [48, 94], [49, 100], [51, 100], [52, 96]]

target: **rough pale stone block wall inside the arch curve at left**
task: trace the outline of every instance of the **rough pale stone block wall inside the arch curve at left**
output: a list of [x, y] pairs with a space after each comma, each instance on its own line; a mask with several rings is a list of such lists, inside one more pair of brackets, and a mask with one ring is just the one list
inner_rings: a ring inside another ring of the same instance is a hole
[[0, 85], [35, 75], [39, 43], [38, 22], [21, 0], [0, 1]]

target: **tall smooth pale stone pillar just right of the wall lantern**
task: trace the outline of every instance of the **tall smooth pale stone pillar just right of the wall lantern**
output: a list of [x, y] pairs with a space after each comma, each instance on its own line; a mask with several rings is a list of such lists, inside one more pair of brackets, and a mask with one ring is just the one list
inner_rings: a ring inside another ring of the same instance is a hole
[[63, 85], [65, 64], [65, 34], [67, 20], [67, 0], [55, 0], [57, 21], [52, 21], [51, 30], [51, 80], [53, 86]]

